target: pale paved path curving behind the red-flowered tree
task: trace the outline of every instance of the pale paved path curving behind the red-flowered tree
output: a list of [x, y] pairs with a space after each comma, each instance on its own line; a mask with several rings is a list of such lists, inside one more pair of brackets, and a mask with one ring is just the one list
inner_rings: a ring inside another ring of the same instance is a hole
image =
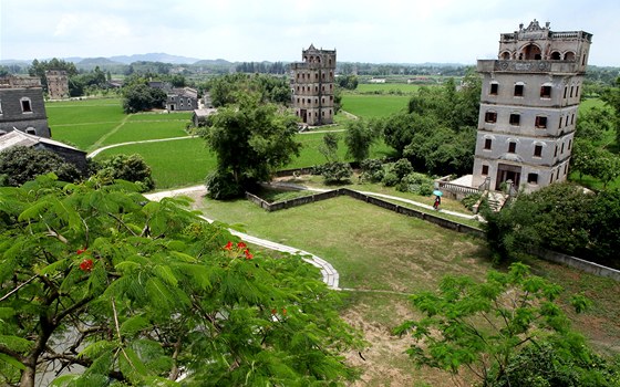
[[[180, 188], [180, 189], [175, 189], [169, 191], [147, 194], [145, 195], [145, 197], [149, 200], [158, 201], [166, 197], [182, 196], [188, 194], [205, 195], [207, 189], [205, 186], [194, 186], [194, 187]], [[200, 218], [205, 219], [209, 223], [213, 222], [213, 219], [208, 219], [206, 217], [200, 217]], [[248, 236], [247, 233], [239, 232], [232, 229], [228, 229], [228, 231], [230, 231], [231, 234], [241, 238], [246, 242], [260, 245], [262, 248], [270, 249], [270, 250], [301, 255], [306, 262], [321, 270], [323, 282], [327, 283], [329, 287], [333, 290], [340, 290], [339, 287], [340, 275], [338, 274], [338, 271], [335, 271], [335, 269], [333, 269], [333, 266], [328, 261], [312, 253], [309, 253], [308, 251], [299, 250], [290, 245], [285, 245], [285, 244], [268, 241], [266, 239]]]

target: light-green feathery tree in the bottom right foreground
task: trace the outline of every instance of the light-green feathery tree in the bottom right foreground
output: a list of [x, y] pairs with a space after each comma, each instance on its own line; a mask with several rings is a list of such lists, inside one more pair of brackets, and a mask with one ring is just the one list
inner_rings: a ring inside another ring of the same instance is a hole
[[[445, 276], [437, 292], [411, 297], [424, 317], [403, 323], [395, 333], [411, 333], [422, 343], [407, 349], [418, 366], [455, 375], [466, 367], [483, 386], [512, 385], [518, 381], [510, 368], [516, 355], [530, 346], [565, 345], [575, 336], [556, 303], [560, 292], [523, 263], [512, 264], [507, 273], [490, 271], [484, 282]], [[581, 312], [589, 302], [577, 295], [571, 303]]]

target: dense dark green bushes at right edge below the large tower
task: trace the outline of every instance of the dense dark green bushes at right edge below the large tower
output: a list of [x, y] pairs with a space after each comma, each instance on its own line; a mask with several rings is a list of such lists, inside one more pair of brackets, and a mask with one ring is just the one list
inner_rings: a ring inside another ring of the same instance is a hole
[[519, 195], [499, 212], [485, 215], [487, 241], [496, 259], [514, 259], [518, 252], [546, 248], [618, 265], [620, 197], [614, 191], [586, 194], [569, 184], [555, 184]]

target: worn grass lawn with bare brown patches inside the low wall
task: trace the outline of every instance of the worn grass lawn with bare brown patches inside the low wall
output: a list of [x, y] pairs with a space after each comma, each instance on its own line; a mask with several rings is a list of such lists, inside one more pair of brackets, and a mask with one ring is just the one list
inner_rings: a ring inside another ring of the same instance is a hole
[[[355, 386], [454, 385], [446, 374], [416, 369], [403, 354], [411, 338], [397, 338], [391, 332], [405, 318], [417, 316], [406, 294], [434, 290], [446, 274], [483, 279], [492, 269], [484, 241], [348, 197], [277, 212], [266, 212], [247, 200], [202, 199], [198, 205], [209, 218], [240, 224], [252, 236], [310, 251], [333, 264], [340, 286], [350, 289], [343, 291], [342, 316], [362, 330], [372, 345], [363, 353], [365, 362], [358, 354], [348, 356], [364, 370]], [[527, 263], [571, 293], [588, 295], [595, 305], [583, 315], [570, 314], [575, 327], [598, 351], [620, 353], [618, 282], [535, 259]], [[568, 295], [560, 302], [569, 310]]]

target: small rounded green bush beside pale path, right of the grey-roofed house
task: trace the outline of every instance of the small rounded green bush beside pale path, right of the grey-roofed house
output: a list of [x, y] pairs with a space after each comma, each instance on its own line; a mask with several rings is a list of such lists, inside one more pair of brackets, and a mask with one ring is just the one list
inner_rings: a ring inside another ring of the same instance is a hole
[[136, 184], [141, 192], [155, 188], [151, 167], [140, 155], [116, 155], [107, 159], [97, 160], [94, 168], [101, 181], [111, 184], [116, 179]]

